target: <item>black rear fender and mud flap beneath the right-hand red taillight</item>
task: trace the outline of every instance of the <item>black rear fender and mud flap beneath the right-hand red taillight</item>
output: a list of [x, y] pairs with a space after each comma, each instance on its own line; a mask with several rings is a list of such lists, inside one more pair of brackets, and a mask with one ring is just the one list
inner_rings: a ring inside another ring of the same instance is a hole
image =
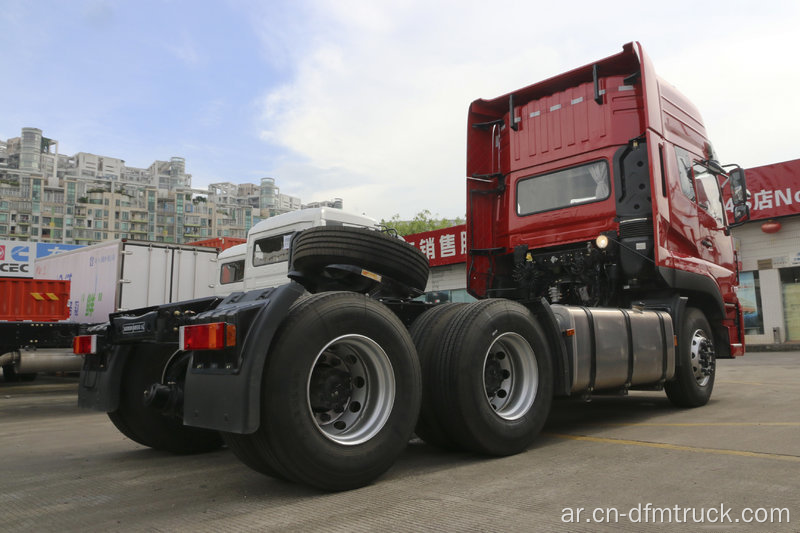
[[184, 424], [229, 433], [253, 433], [258, 429], [261, 378], [269, 346], [289, 308], [304, 291], [302, 285], [291, 282], [264, 292], [261, 309], [245, 333], [238, 372], [208, 372], [189, 365], [184, 386]]

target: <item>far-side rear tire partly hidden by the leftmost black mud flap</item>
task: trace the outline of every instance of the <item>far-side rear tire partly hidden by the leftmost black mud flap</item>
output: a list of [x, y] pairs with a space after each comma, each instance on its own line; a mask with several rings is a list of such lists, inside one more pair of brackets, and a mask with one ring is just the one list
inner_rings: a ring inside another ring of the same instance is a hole
[[143, 446], [178, 454], [202, 453], [222, 446], [219, 432], [184, 426], [181, 420], [145, 406], [144, 391], [161, 381], [172, 351], [144, 348], [131, 353], [120, 386], [119, 407], [108, 413], [116, 428]]

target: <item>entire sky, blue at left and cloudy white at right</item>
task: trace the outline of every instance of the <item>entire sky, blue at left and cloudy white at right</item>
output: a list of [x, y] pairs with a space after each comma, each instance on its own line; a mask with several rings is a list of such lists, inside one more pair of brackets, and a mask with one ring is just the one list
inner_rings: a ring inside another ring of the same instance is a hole
[[463, 216], [466, 112], [639, 40], [723, 163], [800, 157], [800, 3], [0, 0], [0, 138]]

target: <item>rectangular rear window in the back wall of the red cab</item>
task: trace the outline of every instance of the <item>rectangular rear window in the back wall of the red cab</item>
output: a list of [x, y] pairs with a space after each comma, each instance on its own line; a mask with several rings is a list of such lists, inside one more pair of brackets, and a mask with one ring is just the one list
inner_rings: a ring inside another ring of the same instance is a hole
[[517, 182], [517, 214], [532, 215], [573, 205], [605, 200], [611, 192], [608, 163], [541, 174]]

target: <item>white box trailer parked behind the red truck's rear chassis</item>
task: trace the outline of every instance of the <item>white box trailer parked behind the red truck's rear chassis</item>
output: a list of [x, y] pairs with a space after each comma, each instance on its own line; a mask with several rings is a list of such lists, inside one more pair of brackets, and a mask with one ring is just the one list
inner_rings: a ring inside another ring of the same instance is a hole
[[36, 261], [36, 279], [68, 279], [71, 322], [105, 322], [108, 315], [211, 296], [217, 251], [116, 240]]

